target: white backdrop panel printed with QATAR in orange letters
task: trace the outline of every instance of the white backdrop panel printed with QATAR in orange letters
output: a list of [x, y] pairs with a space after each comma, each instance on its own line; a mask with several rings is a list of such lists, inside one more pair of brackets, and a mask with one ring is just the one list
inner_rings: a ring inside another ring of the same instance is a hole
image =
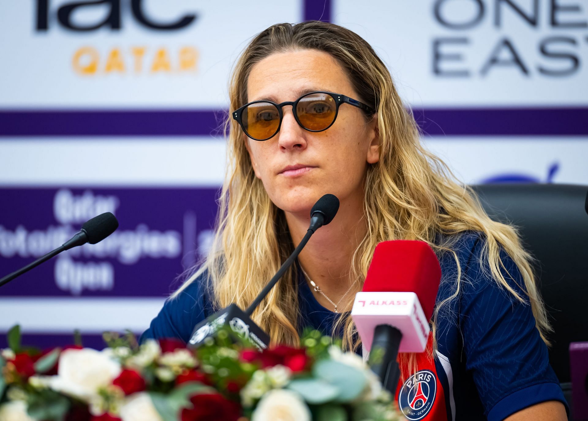
[[[224, 108], [230, 66], [248, 40], [276, 22], [302, 17], [300, 1], [263, 6], [141, 2], [149, 21], [169, 24], [196, 16], [181, 29], [162, 31], [142, 25], [130, 2], [115, 1], [121, 4], [120, 29], [104, 25], [72, 31], [57, 18], [58, 10], [71, 3], [52, 0], [46, 18], [39, 18], [35, 1], [0, 2], [0, 57], [5, 64], [0, 69], [0, 108]], [[108, 4], [83, 5], [67, 22], [96, 25], [111, 13]], [[39, 19], [46, 30], [38, 29]]]

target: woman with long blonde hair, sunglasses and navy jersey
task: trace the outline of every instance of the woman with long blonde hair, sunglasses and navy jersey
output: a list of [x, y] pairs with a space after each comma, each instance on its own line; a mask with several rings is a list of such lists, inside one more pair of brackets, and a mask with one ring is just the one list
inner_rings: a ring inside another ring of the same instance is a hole
[[389, 71], [362, 38], [316, 21], [271, 26], [236, 65], [230, 110], [211, 253], [142, 339], [187, 342], [215, 309], [246, 308], [302, 239], [312, 205], [332, 193], [335, 219], [253, 313], [273, 343], [295, 345], [312, 326], [359, 350], [349, 310], [377, 243], [422, 240], [443, 273], [431, 352], [399, 360], [405, 386], [423, 366], [432, 373], [427, 390], [436, 392], [419, 403], [425, 419], [566, 419], [529, 255], [515, 229], [488, 218], [420, 146]]

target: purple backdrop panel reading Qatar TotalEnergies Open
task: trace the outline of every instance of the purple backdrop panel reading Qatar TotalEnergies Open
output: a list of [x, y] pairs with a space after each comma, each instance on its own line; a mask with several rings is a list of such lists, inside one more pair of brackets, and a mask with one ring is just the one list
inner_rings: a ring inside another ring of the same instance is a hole
[[102, 242], [68, 250], [4, 287], [4, 295], [161, 296], [205, 253], [216, 189], [1, 189], [1, 272], [57, 248], [83, 222], [112, 212]]

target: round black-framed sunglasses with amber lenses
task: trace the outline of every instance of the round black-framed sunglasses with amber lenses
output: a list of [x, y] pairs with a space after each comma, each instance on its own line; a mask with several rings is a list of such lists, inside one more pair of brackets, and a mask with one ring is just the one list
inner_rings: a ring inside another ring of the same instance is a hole
[[233, 119], [243, 132], [255, 141], [267, 141], [280, 131], [284, 105], [292, 105], [296, 122], [309, 132], [322, 132], [333, 125], [342, 103], [356, 106], [368, 114], [375, 111], [357, 99], [334, 92], [315, 91], [300, 96], [296, 101], [275, 103], [253, 101], [233, 111]]

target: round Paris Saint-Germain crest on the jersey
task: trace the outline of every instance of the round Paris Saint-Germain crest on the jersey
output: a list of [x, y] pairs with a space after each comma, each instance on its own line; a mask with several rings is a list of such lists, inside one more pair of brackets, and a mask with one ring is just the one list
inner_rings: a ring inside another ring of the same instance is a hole
[[398, 393], [398, 406], [404, 416], [413, 421], [423, 419], [433, 407], [437, 378], [430, 370], [420, 370], [410, 376]]

